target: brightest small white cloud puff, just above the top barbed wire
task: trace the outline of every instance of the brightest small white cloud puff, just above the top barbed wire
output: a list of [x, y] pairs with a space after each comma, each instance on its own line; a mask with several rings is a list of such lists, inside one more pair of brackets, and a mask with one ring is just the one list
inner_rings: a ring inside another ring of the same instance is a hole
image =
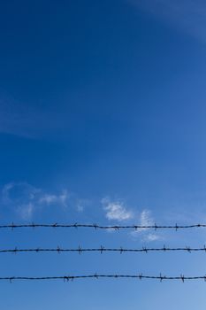
[[128, 211], [122, 202], [110, 201], [109, 198], [103, 198], [102, 204], [108, 220], [126, 221], [133, 218], [133, 213]]

